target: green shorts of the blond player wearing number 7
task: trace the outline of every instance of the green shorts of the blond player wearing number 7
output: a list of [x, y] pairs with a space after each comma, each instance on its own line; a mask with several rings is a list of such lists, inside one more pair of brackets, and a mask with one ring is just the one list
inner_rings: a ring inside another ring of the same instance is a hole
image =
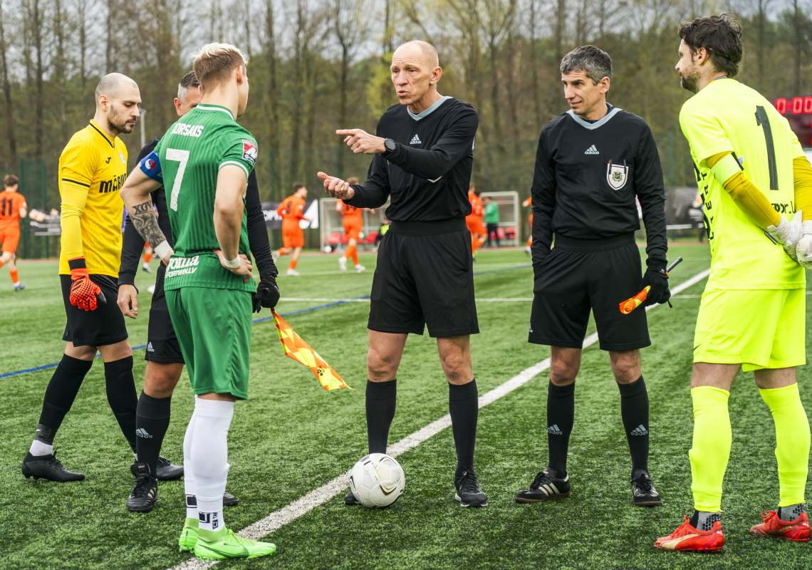
[[195, 394], [248, 398], [251, 293], [210, 287], [166, 291], [166, 304]]

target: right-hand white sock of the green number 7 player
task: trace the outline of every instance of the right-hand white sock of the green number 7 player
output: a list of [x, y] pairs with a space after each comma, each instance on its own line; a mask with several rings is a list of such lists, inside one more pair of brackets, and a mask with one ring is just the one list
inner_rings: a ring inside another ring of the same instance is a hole
[[228, 428], [232, 417], [234, 402], [200, 398], [195, 401], [192, 473], [201, 529], [219, 530], [225, 526], [222, 494], [226, 492], [228, 477]]

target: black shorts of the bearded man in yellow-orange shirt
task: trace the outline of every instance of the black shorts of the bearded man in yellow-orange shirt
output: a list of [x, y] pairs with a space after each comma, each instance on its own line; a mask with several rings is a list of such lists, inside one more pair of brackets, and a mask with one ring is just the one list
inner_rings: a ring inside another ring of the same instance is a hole
[[103, 347], [107, 344], [127, 340], [127, 324], [124, 315], [116, 304], [119, 298], [119, 286], [116, 278], [110, 275], [93, 274], [90, 280], [96, 283], [107, 302], [97, 300], [96, 309], [85, 311], [71, 304], [71, 276], [59, 275], [62, 284], [62, 298], [65, 303], [67, 323], [62, 339], [73, 343], [75, 347]]

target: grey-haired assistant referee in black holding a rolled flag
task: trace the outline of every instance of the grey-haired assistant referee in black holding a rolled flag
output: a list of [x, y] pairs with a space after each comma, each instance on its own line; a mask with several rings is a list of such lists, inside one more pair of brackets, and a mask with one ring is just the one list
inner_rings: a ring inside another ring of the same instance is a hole
[[[620, 303], [651, 286], [646, 305], [668, 291], [665, 192], [654, 136], [637, 115], [607, 103], [611, 58], [594, 45], [561, 61], [570, 110], [552, 119], [538, 140], [533, 175], [533, 309], [529, 342], [551, 347], [547, 395], [550, 461], [519, 503], [569, 496], [567, 449], [574, 417], [575, 378], [590, 309], [601, 349], [620, 388], [620, 411], [632, 455], [637, 505], [661, 503], [648, 473], [649, 396], [640, 348], [650, 345], [646, 311], [624, 315]], [[648, 269], [634, 231], [635, 196], [646, 223]], [[551, 242], [555, 234], [555, 248]]]

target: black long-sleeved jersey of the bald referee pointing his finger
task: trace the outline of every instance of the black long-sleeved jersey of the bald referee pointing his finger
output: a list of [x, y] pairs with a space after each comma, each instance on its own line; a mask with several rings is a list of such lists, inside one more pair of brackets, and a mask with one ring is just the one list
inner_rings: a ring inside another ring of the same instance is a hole
[[[420, 114], [408, 106], [387, 109], [376, 134], [394, 140], [391, 153], [376, 154], [364, 184], [353, 184], [356, 208], [379, 208], [391, 196], [392, 222], [440, 222], [471, 214], [468, 185], [479, 116], [468, 103], [443, 97]], [[392, 226], [395, 229], [397, 224]]]

